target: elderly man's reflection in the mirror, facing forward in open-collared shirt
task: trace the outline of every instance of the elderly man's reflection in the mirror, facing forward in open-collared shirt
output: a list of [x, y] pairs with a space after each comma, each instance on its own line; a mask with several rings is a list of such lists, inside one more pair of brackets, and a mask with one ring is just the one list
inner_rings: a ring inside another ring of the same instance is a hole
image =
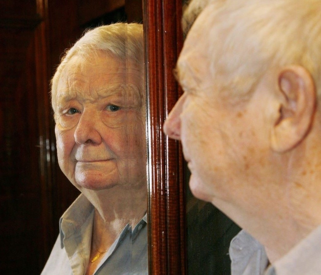
[[81, 195], [41, 274], [148, 274], [143, 27], [87, 32], [52, 80], [61, 170]]

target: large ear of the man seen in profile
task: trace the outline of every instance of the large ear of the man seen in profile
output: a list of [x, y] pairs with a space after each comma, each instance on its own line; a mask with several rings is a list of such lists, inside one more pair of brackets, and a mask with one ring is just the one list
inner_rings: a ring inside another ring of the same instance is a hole
[[315, 112], [316, 89], [310, 73], [301, 66], [283, 68], [278, 75], [281, 94], [279, 117], [271, 131], [271, 147], [285, 152], [307, 135]]

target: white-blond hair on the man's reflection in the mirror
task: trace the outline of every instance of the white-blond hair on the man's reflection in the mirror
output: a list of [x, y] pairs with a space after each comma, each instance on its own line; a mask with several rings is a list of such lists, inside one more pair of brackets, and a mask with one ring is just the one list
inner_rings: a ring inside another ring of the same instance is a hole
[[51, 104], [56, 104], [58, 81], [68, 61], [76, 54], [92, 57], [97, 52], [118, 58], [121, 62], [134, 61], [143, 66], [144, 63], [143, 25], [138, 23], [115, 23], [90, 29], [65, 52], [56, 73], [51, 80]]

